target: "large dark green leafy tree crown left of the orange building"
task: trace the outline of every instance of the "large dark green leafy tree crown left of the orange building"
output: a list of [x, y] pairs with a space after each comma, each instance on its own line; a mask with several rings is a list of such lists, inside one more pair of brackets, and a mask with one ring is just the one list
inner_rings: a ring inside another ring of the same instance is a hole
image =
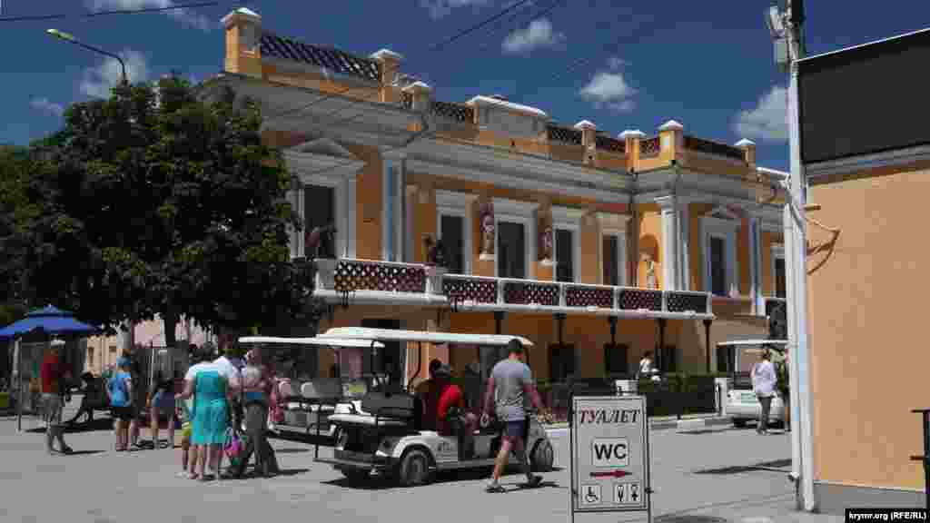
[[70, 107], [27, 191], [42, 208], [21, 235], [36, 296], [110, 328], [159, 315], [169, 345], [181, 315], [223, 329], [318, 317], [261, 122], [251, 101], [176, 77]]

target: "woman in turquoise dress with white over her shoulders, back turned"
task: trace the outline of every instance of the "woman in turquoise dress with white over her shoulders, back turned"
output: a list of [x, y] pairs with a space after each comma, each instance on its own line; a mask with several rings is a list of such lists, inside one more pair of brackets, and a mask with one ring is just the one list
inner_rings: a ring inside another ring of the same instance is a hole
[[180, 399], [193, 396], [193, 432], [191, 446], [198, 472], [192, 479], [206, 480], [207, 453], [210, 476], [219, 479], [219, 460], [229, 428], [228, 382], [223, 369], [210, 363], [207, 355], [199, 355], [200, 363], [188, 369], [184, 376], [184, 392]]

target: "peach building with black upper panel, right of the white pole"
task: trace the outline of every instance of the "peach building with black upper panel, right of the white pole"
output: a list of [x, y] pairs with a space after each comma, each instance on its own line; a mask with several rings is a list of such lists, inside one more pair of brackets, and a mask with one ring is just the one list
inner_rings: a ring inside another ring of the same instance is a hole
[[[930, 408], [917, 386], [930, 355], [915, 337], [930, 251], [913, 238], [930, 132], [914, 118], [923, 89], [904, 79], [928, 55], [923, 30], [800, 62], [813, 432], [802, 449], [819, 512], [925, 503], [923, 466], [911, 460], [924, 427], [911, 410]], [[866, 96], [882, 102], [844, 114]]]

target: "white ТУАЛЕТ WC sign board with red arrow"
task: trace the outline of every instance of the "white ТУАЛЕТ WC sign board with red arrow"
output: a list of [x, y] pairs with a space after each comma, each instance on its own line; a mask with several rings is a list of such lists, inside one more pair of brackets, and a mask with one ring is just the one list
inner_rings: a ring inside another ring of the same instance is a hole
[[644, 396], [572, 397], [571, 509], [648, 511]]

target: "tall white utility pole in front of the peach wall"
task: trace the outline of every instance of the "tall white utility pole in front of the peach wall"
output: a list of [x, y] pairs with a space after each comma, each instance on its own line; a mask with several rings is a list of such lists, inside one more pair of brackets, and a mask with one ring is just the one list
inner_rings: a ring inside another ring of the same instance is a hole
[[814, 452], [813, 402], [810, 388], [810, 346], [807, 330], [807, 181], [801, 163], [801, 114], [798, 60], [804, 58], [804, 2], [787, 0], [787, 8], [770, 7], [766, 23], [775, 40], [776, 62], [786, 69], [790, 145], [790, 191], [782, 220], [785, 230], [785, 272], [789, 341], [791, 418], [791, 479], [795, 482], [798, 509], [813, 512]]

